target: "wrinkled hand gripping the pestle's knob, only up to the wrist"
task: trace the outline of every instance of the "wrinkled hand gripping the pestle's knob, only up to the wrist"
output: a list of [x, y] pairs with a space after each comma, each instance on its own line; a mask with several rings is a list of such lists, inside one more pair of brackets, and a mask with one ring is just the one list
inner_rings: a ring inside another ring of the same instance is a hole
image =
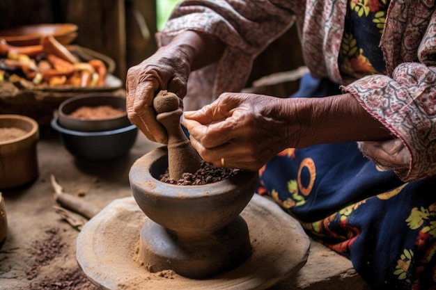
[[130, 67], [127, 72], [127, 116], [149, 140], [166, 144], [168, 136], [157, 122], [153, 99], [160, 90], [174, 92], [181, 98], [187, 92], [189, 56], [177, 45], [160, 48], [153, 56]]

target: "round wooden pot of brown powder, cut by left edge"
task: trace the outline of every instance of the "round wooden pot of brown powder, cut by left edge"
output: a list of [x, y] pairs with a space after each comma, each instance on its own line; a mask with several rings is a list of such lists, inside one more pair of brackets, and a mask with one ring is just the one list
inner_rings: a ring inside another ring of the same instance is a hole
[[39, 174], [38, 123], [24, 115], [0, 115], [0, 129], [0, 191], [30, 184]]

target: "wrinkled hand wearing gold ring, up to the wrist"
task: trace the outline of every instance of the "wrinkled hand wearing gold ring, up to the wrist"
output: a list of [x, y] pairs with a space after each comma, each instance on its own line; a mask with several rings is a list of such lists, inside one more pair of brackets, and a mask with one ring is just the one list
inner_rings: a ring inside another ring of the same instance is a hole
[[192, 145], [205, 161], [256, 171], [288, 147], [286, 101], [277, 97], [224, 93], [198, 111], [184, 113]]

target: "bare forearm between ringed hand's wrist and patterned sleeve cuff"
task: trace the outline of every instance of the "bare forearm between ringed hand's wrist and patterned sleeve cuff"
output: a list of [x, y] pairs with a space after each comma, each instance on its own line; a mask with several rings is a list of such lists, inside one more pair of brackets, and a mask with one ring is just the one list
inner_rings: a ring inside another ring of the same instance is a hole
[[[366, 112], [351, 94], [322, 98], [290, 98], [287, 99], [286, 106], [289, 107], [287, 111], [298, 112], [298, 124], [302, 125], [297, 130], [301, 134], [300, 140], [293, 140], [293, 134], [289, 134], [289, 142], [297, 143], [297, 147], [393, 138], [390, 131]], [[295, 115], [291, 114], [290, 118], [295, 118]], [[290, 129], [293, 130], [295, 129]]]

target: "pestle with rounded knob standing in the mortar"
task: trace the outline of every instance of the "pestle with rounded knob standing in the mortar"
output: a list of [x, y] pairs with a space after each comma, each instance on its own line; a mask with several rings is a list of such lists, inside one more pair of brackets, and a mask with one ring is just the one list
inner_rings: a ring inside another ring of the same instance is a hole
[[156, 120], [168, 134], [168, 171], [171, 179], [182, 179], [183, 173], [195, 173], [200, 168], [201, 157], [180, 126], [182, 109], [179, 97], [173, 92], [161, 90], [153, 100]]

